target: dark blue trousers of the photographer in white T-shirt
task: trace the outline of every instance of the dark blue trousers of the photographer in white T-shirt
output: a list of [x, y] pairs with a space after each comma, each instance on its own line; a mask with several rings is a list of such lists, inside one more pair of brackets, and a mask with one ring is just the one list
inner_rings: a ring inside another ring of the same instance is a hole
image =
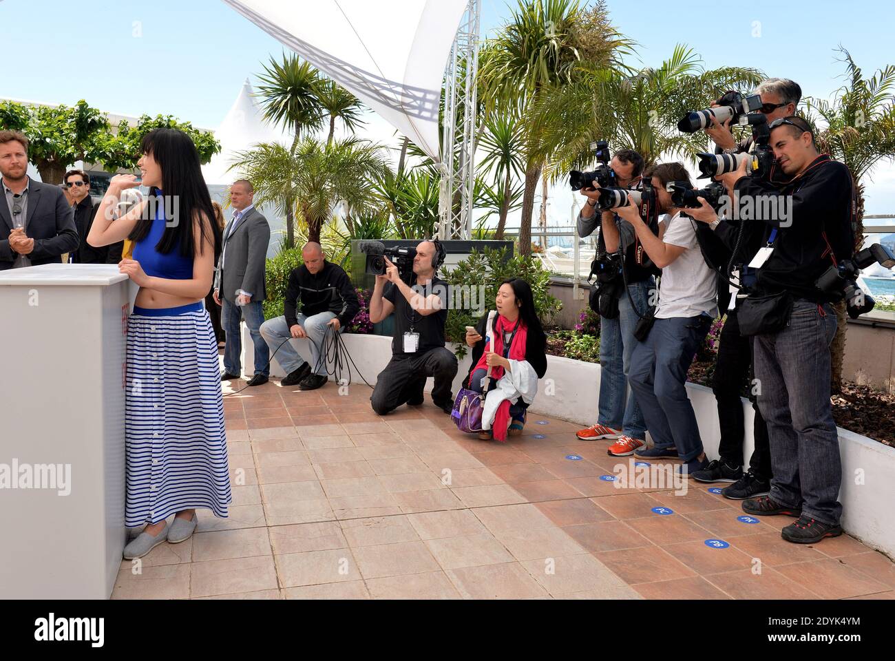
[[711, 325], [708, 314], [657, 319], [631, 356], [627, 378], [644, 411], [652, 442], [658, 448], [676, 447], [684, 461], [703, 452], [703, 439], [684, 384], [696, 349]]

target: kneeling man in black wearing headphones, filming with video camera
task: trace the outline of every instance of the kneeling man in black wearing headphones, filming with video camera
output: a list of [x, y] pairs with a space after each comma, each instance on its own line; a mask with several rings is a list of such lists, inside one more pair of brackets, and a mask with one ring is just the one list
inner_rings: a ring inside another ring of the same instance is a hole
[[385, 275], [376, 276], [370, 298], [370, 321], [381, 322], [395, 313], [392, 359], [376, 378], [371, 395], [373, 410], [380, 416], [401, 406], [422, 404], [426, 377], [435, 378], [432, 401], [450, 414], [454, 405], [451, 382], [457, 371], [456, 356], [445, 347], [447, 281], [436, 277], [444, 262], [438, 239], [416, 246], [413, 273], [408, 284], [388, 258]]

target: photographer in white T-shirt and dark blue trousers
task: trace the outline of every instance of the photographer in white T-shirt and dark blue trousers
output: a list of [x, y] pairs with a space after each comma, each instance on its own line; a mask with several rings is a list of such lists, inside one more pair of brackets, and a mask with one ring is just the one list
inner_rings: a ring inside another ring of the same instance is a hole
[[706, 468], [708, 461], [684, 384], [696, 349], [718, 313], [716, 275], [703, 260], [694, 221], [681, 215], [666, 189], [673, 181], [690, 184], [686, 167], [662, 163], [647, 170], [646, 177], [652, 181], [659, 211], [668, 214], [659, 236], [644, 223], [637, 207], [618, 208], [618, 216], [634, 227], [644, 250], [662, 270], [655, 321], [634, 348], [627, 377], [653, 441], [649, 449], [635, 441], [635, 456], [679, 457], [685, 462], [683, 474], [690, 476]]

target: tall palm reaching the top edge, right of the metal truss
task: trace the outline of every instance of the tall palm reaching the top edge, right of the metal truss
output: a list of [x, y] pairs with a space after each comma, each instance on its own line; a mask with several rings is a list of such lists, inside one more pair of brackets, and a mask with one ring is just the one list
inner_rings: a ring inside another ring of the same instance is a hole
[[[573, 81], [575, 64], [583, 55], [603, 64], [626, 42], [607, 21], [603, 3], [585, 12], [579, 0], [519, 0], [509, 21], [482, 49], [479, 77], [486, 115], [497, 107], [517, 107], [527, 113], [544, 90]], [[550, 156], [537, 132], [525, 126], [525, 185], [519, 250], [532, 252], [534, 193], [545, 160]]]

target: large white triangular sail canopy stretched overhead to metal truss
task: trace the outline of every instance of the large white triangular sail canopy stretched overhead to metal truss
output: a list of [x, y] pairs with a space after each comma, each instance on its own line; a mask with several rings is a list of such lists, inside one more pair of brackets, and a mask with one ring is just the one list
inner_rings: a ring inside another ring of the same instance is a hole
[[466, 0], [223, 0], [439, 160], [439, 100]]

